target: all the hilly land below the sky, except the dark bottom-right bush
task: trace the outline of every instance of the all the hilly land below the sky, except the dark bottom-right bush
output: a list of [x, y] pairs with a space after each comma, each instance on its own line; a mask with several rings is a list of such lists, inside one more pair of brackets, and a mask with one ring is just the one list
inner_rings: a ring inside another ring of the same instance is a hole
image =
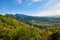
[[57, 20], [60, 18], [0, 15], [0, 40], [47, 40], [53, 33], [60, 32]]

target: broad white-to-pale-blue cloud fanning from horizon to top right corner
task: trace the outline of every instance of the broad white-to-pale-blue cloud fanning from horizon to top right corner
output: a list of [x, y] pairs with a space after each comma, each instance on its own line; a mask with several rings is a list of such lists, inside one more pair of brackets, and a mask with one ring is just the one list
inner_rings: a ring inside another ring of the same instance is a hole
[[50, 3], [45, 4], [44, 7], [48, 9], [42, 12], [36, 13], [34, 16], [58, 16], [60, 15], [60, 1], [59, 0], [51, 1]]

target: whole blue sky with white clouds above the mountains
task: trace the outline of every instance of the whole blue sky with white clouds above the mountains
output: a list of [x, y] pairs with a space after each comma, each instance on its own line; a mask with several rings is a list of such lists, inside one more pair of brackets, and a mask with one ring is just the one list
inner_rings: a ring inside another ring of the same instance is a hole
[[0, 0], [0, 14], [59, 16], [60, 0]]

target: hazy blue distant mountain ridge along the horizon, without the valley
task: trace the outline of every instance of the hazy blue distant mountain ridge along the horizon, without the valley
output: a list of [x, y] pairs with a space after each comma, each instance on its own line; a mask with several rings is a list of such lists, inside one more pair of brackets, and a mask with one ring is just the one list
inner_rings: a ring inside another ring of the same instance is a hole
[[60, 18], [59, 17], [35, 17], [35, 16], [27, 16], [23, 14], [16, 14], [15, 17], [18, 20], [22, 21], [27, 21], [27, 22], [32, 22], [32, 21], [37, 21], [37, 22], [59, 22]]

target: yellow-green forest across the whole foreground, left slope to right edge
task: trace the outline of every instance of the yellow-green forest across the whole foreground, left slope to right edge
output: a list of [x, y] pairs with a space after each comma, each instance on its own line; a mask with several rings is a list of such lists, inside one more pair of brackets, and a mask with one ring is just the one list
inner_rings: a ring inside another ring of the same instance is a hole
[[[60, 36], [59, 24], [42, 24], [42, 28], [34, 27], [13, 16], [0, 15], [0, 40], [54, 40], [51, 39], [52, 34]], [[60, 37], [57, 40], [60, 40]]]

